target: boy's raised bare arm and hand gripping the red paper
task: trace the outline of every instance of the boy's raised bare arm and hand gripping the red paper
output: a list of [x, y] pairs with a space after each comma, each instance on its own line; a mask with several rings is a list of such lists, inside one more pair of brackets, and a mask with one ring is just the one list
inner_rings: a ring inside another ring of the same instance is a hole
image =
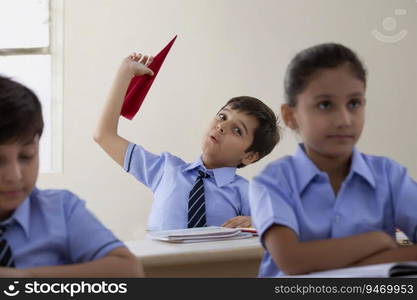
[[153, 71], [147, 67], [152, 60], [152, 57], [148, 58], [135, 53], [123, 60], [94, 135], [94, 140], [122, 167], [124, 155], [129, 145], [129, 141], [120, 137], [117, 133], [124, 96], [134, 75], [153, 75]]

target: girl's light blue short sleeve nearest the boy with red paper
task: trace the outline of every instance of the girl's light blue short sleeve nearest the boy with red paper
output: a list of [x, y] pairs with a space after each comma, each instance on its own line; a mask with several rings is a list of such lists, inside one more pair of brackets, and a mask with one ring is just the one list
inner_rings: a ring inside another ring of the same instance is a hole
[[252, 220], [263, 243], [264, 233], [274, 224], [292, 229], [299, 235], [291, 196], [267, 168], [249, 184]]

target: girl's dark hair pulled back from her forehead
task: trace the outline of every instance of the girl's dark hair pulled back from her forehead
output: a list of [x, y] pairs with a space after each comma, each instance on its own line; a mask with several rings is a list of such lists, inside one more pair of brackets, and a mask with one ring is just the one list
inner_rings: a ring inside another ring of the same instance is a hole
[[366, 85], [366, 70], [355, 52], [335, 43], [316, 45], [299, 52], [288, 65], [284, 91], [289, 106], [296, 106], [296, 96], [307, 87], [311, 76], [317, 71], [347, 64], [354, 76]]

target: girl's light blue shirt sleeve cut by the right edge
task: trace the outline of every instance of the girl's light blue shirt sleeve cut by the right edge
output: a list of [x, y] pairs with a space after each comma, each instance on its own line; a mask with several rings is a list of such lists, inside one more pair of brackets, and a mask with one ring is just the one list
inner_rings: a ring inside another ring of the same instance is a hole
[[410, 240], [417, 242], [417, 183], [408, 175], [407, 169], [391, 162], [391, 191], [397, 227]]

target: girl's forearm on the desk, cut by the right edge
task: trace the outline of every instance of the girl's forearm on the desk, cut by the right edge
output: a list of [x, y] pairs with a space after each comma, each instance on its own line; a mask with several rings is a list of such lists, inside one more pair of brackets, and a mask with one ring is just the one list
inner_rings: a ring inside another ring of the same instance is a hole
[[417, 261], [417, 245], [380, 251], [356, 262], [354, 265], [363, 266], [410, 260]]

